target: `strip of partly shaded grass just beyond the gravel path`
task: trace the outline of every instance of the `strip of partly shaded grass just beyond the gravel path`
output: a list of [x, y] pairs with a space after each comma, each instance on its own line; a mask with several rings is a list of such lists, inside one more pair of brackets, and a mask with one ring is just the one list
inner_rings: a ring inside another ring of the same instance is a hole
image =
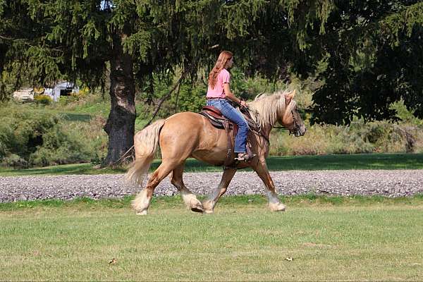
[[[156, 169], [160, 160], [155, 160], [152, 169]], [[343, 154], [326, 156], [289, 156], [269, 157], [269, 170], [348, 170], [348, 169], [422, 169], [423, 154]], [[220, 166], [210, 166], [195, 159], [188, 159], [185, 171], [221, 171]], [[96, 169], [92, 164], [68, 164], [63, 166], [49, 166], [44, 168], [30, 168], [13, 170], [0, 168], [0, 176], [25, 175], [61, 175], [61, 174], [102, 174], [123, 173], [121, 169]]]

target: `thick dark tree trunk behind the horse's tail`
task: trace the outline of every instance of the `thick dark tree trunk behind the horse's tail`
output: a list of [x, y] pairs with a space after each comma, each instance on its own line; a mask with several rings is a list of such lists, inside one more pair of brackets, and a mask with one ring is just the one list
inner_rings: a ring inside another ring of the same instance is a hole
[[133, 59], [123, 53], [121, 36], [114, 38], [110, 67], [111, 110], [104, 125], [109, 135], [106, 165], [116, 163], [134, 144], [136, 116]]

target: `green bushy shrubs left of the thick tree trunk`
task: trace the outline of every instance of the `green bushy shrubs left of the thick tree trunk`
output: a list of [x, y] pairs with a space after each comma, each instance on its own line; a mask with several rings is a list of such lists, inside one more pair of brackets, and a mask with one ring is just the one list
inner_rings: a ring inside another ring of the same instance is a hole
[[[49, 166], [90, 161], [101, 151], [92, 128], [65, 123], [57, 114], [39, 114], [22, 108], [0, 108], [0, 162], [6, 166]], [[105, 133], [104, 133], [105, 135]], [[105, 141], [106, 142], [106, 141]], [[96, 147], [97, 146], [97, 147]]]

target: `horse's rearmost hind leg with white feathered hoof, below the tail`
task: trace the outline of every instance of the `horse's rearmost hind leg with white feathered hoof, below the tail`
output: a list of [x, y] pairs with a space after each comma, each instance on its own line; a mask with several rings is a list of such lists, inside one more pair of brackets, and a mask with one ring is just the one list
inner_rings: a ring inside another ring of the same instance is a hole
[[140, 194], [135, 197], [133, 200], [132, 206], [137, 212], [137, 214], [145, 215], [147, 214], [147, 209], [149, 207], [150, 200], [152, 200], [154, 189], [159, 185], [161, 180], [163, 180], [168, 174], [175, 168], [176, 164], [163, 161], [160, 166], [152, 173], [150, 176], [147, 186], [140, 192]]

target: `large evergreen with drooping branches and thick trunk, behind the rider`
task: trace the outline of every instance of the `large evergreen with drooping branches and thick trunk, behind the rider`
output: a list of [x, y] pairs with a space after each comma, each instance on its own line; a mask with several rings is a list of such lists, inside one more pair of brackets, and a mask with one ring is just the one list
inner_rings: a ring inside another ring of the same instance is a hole
[[264, 0], [1, 0], [0, 7], [3, 73], [20, 62], [14, 70], [29, 71], [34, 84], [79, 78], [96, 87], [110, 63], [108, 164], [133, 145], [135, 85], [152, 85], [153, 73], [168, 78], [182, 67], [195, 75], [222, 49], [249, 73], [283, 73], [292, 45], [285, 12]]

